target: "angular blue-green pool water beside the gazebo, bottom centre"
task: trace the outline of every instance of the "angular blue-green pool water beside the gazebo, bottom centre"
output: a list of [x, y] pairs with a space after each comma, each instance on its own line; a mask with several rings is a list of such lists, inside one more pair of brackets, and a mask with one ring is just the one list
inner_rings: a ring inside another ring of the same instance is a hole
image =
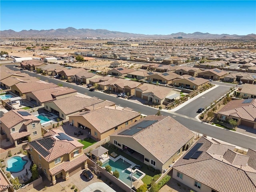
[[[124, 182], [126, 185], [130, 186], [131, 184], [131, 178], [129, 177], [129, 175], [131, 174], [130, 171], [125, 170], [126, 168], [130, 168], [131, 164], [124, 161], [122, 159], [118, 159], [116, 160], [116, 162], [112, 161], [112, 160], [108, 160], [106, 161], [104, 164], [102, 164], [102, 167], [106, 167], [106, 165], [109, 165], [112, 167], [112, 171], [114, 172], [115, 170], [118, 170], [119, 172], [119, 179]], [[125, 170], [124, 172], [122, 172], [123, 170]], [[132, 182], [134, 182], [134, 180], [132, 180]]]

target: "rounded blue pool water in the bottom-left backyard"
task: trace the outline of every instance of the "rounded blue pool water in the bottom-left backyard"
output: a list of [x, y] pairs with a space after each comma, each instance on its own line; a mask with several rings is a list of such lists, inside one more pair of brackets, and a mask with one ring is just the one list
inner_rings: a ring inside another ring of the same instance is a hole
[[27, 164], [28, 160], [23, 160], [19, 156], [12, 157], [7, 160], [7, 171], [10, 171], [12, 173], [20, 172], [24, 169], [25, 165]]

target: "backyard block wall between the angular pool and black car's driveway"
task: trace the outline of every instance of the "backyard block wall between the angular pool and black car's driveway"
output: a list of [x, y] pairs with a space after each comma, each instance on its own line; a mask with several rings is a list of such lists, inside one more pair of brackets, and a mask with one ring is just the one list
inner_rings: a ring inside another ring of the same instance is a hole
[[[88, 166], [94, 167], [95, 166], [95, 162], [93, 162], [92, 160], [88, 159]], [[106, 178], [108, 178], [112, 183], [116, 184], [118, 187], [122, 188], [124, 191], [126, 192], [135, 192], [133, 189], [131, 190], [130, 187], [128, 187], [126, 184], [124, 184], [123, 182], [121, 182], [118, 178], [114, 177], [112, 174], [110, 174], [109, 172], [107, 172], [105, 169], [103, 169], [102, 167], [99, 166], [100, 169], [100, 173], [103, 174]], [[111, 186], [111, 185], [110, 185]]]

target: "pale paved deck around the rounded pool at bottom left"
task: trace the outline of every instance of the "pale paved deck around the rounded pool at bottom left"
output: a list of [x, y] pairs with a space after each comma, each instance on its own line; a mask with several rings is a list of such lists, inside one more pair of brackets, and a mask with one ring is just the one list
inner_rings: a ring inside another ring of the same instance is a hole
[[[12, 178], [18, 177], [19, 180], [20, 180], [20, 183], [23, 183], [23, 182], [26, 181], [25, 177], [28, 178], [28, 179], [30, 179], [30, 177], [32, 176], [32, 173], [30, 172], [30, 165], [31, 165], [31, 162], [30, 162], [30, 160], [28, 159], [28, 156], [26, 156], [26, 155], [19, 154], [19, 155], [15, 155], [15, 156], [19, 156], [19, 157], [21, 157], [21, 158], [23, 158], [23, 159], [28, 160], [28, 162], [26, 163], [26, 165], [25, 165], [25, 167], [24, 167], [23, 170], [21, 170], [20, 172], [17, 172], [17, 173], [11, 173], [11, 177], [12, 177]], [[12, 156], [12, 157], [15, 157], [15, 156]], [[12, 157], [10, 157], [10, 158], [12, 158]], [[8, 158], [8, 159], [10, 159], [10, 158]], [[8, 160], [8, 159], [7, 159], [7, 160]], [[6, 161], [7, 161], [7, 160], [6, 160]], [[7, 173], [10, 173], [10, 172], [7, 171], [6, 169], [7, 169], [7, 165], [6, 165], [6, 167], [4, 168], [4, 171], [7, 172]], [[26, 174], [26, 170], [28, 170], [28, 174]], [[27, 179], [27, 180], [28, 180], [28, 179]], [[25, 181], [24, 181], [24, 180], [25, 180]]]

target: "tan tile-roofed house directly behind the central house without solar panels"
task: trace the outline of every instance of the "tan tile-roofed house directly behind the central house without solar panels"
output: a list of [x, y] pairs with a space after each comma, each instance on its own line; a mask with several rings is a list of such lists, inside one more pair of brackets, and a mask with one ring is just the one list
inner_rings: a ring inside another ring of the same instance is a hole
[[44, 103], [44, 109], [56, 113], [62, 119], [68, 119], [68, 116], [100, 108], [102, 106], [114, 106], [110, 101], [91, 98], [82, 94], [61, 98]]

